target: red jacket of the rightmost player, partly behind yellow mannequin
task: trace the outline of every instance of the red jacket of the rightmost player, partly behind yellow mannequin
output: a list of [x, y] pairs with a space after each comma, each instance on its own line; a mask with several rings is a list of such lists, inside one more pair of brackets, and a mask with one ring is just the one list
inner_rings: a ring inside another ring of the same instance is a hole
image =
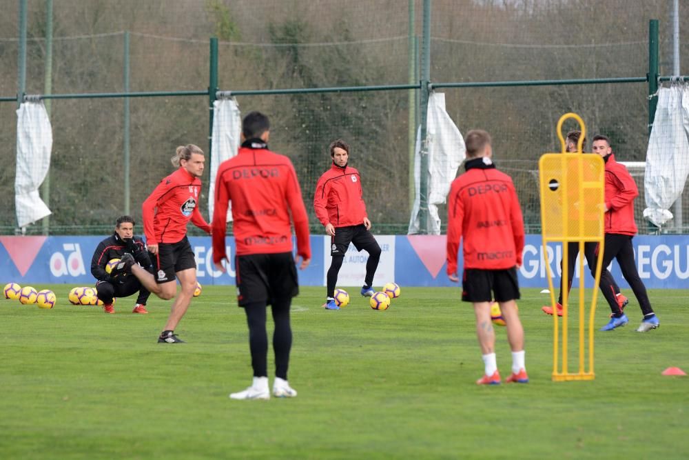
[[615, 154], [605, 160], [605, 232], [618, 234], [637, 234], [634, 221], [634, 199], [639, 189], [626, 166], [615, 161]]

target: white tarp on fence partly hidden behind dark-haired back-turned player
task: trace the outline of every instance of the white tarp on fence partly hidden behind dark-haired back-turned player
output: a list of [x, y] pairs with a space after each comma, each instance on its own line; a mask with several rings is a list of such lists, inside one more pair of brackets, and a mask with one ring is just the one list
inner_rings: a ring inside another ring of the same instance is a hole
[[[210, 220], [213, 220], [213, 200], [215, 199], [215, 179], [218, 166], [237, 154], [242, 131], [242, 117], [235, 99], [218, 99], [214, 101], [213, 107], [211, 174], [208, 192], [208, 219]], [[227, 221], [232, 221], [232, 203], [229, 203], [229, 208], [227, 208]]]

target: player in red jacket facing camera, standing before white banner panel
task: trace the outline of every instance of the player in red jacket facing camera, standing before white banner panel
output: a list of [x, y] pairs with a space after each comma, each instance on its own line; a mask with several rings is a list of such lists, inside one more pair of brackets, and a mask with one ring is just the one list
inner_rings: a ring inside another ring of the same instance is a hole
[[327, 274], [323, 307], [327, 310], [340, 310], [335, 304], [335, 286], [349, 243], [353, 243], [356, 250], [369, 253], [364, 286], [361, 288], [361, 295], [367, 297], [373, 295], [371, 285], [380, 261], [380, 246], [369, 232], [371, 221], [366, 213], [359, 172], [347, 164], [349, 144], [337, 139], [330, 144], [329, 150], [333, 163], [316, 183], [313, 208], [316, 210], [316, 217], [325, 227], [325, 234], [331, 237], [330, 255], [333, 259]]

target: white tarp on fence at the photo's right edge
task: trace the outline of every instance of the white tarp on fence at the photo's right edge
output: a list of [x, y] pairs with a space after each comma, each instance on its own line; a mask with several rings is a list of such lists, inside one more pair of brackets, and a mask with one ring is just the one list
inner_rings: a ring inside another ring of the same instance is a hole
[[644, 217], [661, 227], [689, 174], [689, 88], [673, 84], [658, 91], [658, 106], [646, 152]]

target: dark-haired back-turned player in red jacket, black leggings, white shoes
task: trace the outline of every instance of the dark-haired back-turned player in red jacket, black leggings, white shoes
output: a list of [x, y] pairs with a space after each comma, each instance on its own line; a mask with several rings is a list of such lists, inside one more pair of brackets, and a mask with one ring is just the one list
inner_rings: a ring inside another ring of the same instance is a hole
[[268, 150], [269, 120], [250, 112], [242, 121], [242, 146], [236, 157], [218, 168], [213, 212], [213, 261], [225, 270], [227, 203], [232, 201], [236, 243], [237, 303], [244, 308], [249, 326], [249, 350], [254, 380], [232, 399], [269, 399], [265, 329], [266, 306], [271, 306], [275, 330], [275, 380], [273, 395], [296, 397], [287, 382], [292, 331], [289, 308], [299, 293], [292, 256], [290, 214], [297, 237], [300, 269], [311, 261], [309, 219], [294, 166], [289, 158]]

